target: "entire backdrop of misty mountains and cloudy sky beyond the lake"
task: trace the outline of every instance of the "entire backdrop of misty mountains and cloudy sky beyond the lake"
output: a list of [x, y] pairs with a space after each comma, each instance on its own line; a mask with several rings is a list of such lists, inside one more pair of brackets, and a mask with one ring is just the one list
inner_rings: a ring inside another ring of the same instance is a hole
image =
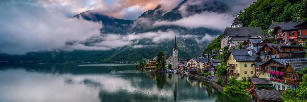
[[70, 61], [76, 50], [89, 50], [84, 54], [105, 54], [95, 61], [140, 61], [154, 57], [159, 50], [171, 54], [175, 33], [179, 57], [198, 56], [252, 2], [1, 1], [0, 53], [5, 57], [0, 60], [23, 57], [41, 61], [29, 58], [29, 53], [47, 52], [57, 59], [67, 58], [62, 57], [66, 54], [71, 59], [65, 61]]

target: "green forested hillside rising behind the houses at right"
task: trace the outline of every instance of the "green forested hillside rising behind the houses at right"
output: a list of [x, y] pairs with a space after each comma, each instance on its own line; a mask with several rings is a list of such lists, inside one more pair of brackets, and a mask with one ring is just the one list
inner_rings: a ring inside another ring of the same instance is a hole
[[[239, 14], [244, 27], [261, 27], [265, 31], [272, 21], [296, 21], [297, 17], [307, 20], [307, 0], [258, 0]], [[203, 54], [210, 54], [212, 49], [220, 49], [221, 38], [219, 36], [213, 40]]]

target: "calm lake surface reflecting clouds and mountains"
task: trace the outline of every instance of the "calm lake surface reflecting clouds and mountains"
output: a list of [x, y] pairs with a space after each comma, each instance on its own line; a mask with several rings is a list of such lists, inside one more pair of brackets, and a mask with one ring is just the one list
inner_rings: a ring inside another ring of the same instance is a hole
[[184, 75], [135, 65], [0, 65], [0, 101], [251, 101]]

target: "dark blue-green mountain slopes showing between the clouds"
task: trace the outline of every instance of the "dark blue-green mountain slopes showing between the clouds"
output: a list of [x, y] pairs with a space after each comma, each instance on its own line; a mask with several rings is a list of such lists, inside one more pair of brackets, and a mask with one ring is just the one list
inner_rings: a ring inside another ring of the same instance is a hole
[[[157, 8], [144, 12], [135, 20], [119, 19], [92, 11], [77, 14], [73, 18], [102, 22], [102, 34], [125, 36], [128, 34], [174, 31], [182, 36], [193, 35], [193, 37], [177, 38], [179, 58], [191, 58], [202, 55], [203, 50], [209, 44], [208, 41], [202, 40], [204, 36], [220, 35], [222, 31], [202, 27], [188, 29], [178, 25], [152, 25], [157, 21], [176, 21], [204, 11], [225, 13], [228, 10], [228, 6], [223, 2], [211, 1], [203, 4], [191, 4], [191, 1], [194, 0], [185, 0], [170, 11], [163, 11], [161, 9], [163, 7], [158, 5]], [[185, 14], [181, 13], [181, 7], [183, 6], [186, 7], [187, 13]], [[136, 48], [134, 45], [142, 45], [143, 47]], [[165, 52], [166, 55], [171, 55], [172, 47], [173, 40], [156, 43], [152, 39], [142, 39], [132, 45], [107, 51], [60, 50], [54, 52], [31, 52], [22, 56], [0, 54], [0, 61], [27, 61], [33, 63], [135, 63], [145, 59], [152, 59], [160, 50]]]

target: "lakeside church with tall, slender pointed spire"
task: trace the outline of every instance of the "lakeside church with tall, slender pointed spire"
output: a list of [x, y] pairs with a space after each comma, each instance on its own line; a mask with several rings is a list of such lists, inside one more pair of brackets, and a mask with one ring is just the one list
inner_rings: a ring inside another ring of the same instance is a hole
[[171, 64], [172, 69], [178, 69], [178, 49], [177, 49], [177, 41], [176, 34], [174, 39], [174, 48], [172, 56], [166, 58], [166, 65]]

